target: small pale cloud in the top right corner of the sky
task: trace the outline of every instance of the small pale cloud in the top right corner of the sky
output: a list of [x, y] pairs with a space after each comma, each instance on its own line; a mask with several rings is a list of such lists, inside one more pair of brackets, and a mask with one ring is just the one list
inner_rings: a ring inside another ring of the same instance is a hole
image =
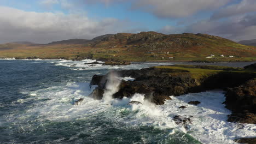
[[212, 19], [220, 19], [240, 14], [252, 13], [256, 11], [255, 0], [243, 0], [238, 4], [232, 4], [222, 8], [213, 14]]

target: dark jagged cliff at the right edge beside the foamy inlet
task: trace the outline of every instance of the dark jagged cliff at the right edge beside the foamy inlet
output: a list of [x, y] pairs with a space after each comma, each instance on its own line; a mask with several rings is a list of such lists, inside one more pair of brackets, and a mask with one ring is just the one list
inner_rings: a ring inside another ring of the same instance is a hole
[[232, 111], [228, 121], [256, 124], [256, 79], [228, 88], [225, 96], [226, 108]]

